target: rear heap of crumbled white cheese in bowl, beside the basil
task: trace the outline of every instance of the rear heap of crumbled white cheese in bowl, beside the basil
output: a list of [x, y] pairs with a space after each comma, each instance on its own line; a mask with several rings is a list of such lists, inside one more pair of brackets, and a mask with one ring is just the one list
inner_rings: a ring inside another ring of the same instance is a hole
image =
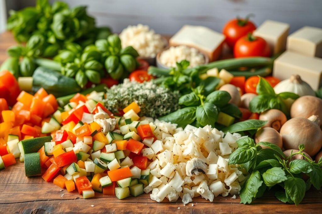
[[168, 41], [147, 25], [129, 25], [119, 34], [122, 47], [132, 46], [139, 57], [149, 64], [156, 64], [156, 55], [168, 46]]

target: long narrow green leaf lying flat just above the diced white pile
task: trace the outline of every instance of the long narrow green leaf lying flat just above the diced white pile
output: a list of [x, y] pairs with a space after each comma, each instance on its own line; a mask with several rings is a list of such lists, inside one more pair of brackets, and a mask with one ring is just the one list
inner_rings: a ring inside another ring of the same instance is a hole
[[253, 130], [253, 129], [259, 129], [263, 125], [265, 125], [266, 123], [267, 123], [267, 121], [264, 121], [264, 120], [255, 120], [255, 119], [245, 120], [245, 121], [242, 121], [242, 122], [232, 124], [232, 125], [230, 125], [228, 127], [225, 127], [225, 128], [222, 129], [222, 131], [224, 133], [227, 133], [227, 132], [234, 133], [234, 132], [248, 131], [248, 130]]

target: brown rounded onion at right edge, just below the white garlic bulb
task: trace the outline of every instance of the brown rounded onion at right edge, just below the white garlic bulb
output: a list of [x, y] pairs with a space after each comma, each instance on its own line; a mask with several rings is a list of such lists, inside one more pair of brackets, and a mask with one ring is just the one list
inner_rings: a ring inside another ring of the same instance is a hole
[[310, 95], [300, 97], [292, 104], [290, 114], [292, 118], [308, 118], [311, 115], [322, 118], [322, 99]]

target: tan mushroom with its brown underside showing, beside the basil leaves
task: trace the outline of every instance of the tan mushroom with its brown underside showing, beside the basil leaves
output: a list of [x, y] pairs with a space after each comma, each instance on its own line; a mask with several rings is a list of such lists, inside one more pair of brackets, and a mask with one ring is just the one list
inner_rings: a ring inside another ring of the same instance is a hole
[[285, 114], [278, 109], [269, 109], [262, 112], [259, 119], [267, 120], [267, 123], [263, 127], [272, 127], [276, 131], [279, 131], [287, 121]]

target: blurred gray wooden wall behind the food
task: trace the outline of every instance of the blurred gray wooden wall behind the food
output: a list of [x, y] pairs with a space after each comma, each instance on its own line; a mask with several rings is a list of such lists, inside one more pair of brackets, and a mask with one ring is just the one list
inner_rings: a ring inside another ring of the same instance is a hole
[[[34, 0], [7, 0], [15, 9]], [[54, 2], [54, 0], [50, 0]], [[302, 26], [322, 28], [322, 0], [66, 0], [70, 6], [88, 5], [98, 25], [120, 32], [128, 25], [147, 24], [157, 33], [174, 34], [184, 24], [221, 31], [236, 15], [253, 13], [260, 25], [266, 19], [287, 22], [290, 32]], [[8, 5], [9, 6], [9, 5]], [[8, 8], [9, 9], [9, 8]]]

